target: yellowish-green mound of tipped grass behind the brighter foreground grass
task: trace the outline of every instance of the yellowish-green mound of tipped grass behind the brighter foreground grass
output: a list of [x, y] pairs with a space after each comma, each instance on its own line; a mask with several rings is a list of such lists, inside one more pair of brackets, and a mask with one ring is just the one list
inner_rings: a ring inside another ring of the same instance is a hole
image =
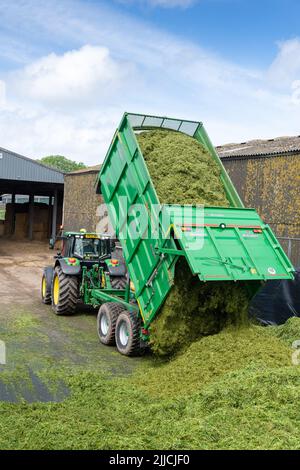
[[273, 336], [269, 328], [229, 326], [217, 335], [194, 342], [166, 363], [154, 362], [138, 376], [139, 385], [159, 398], [189, 395], [249, 365], [257, 370], [288, 366], [290, 347]]

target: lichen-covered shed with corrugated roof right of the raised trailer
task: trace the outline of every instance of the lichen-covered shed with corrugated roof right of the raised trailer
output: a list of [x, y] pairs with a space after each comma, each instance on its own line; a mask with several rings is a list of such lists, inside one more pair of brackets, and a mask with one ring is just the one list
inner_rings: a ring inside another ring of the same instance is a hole
[[[300, 136], [217, 147], [239, 195], [281, 238], [300, 263]], [[293, 239], [289, 241], [288, 239]]]

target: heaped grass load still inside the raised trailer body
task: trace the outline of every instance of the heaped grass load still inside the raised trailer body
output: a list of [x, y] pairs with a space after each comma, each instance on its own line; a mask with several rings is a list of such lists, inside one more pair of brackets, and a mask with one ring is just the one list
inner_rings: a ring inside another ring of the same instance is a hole
[[166, 130], [137, 138], [161, 204], [229, 206], [220, 168], [196, 139]]

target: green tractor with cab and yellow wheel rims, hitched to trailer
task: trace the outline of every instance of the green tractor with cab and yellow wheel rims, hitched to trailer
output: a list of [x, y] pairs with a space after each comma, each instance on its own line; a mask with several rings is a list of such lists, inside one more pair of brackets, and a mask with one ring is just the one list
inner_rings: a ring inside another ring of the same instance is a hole
[[57, 315], [72, 315], [87, 286], [124, 290], [127, 271], [116, 241], [95, 233], [66, 232], [58, 237], [62, 250], [54, 266], [44, 268], [42, 301], [52, 304]]

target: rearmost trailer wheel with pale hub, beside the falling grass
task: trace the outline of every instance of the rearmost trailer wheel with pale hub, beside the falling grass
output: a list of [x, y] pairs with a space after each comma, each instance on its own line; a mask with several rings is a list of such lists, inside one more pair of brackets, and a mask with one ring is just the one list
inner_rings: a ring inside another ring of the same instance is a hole
[[140, 348], [141, 320], [136, 313], [123, 310], [116, 324], [116, 346], [125, 356], [138, 356]]

